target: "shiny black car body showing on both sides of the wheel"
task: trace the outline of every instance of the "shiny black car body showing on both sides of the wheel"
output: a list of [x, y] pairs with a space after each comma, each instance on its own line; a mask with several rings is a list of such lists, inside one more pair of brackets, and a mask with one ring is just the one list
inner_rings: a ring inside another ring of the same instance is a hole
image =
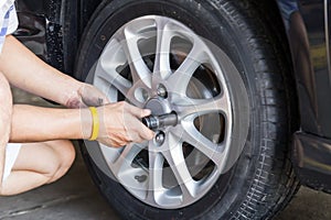
[[[82, 35], [100, 3], [18, 0], [15, 35], [39, 57], [74, 76]], [[275, 35], [285, 36], [284, 45], [290, 51], [284, 56], [291, 62], [298, 101], [291, 162], [300, 184], [331, 193], [331, 4], [327, 0], [275, 0], [271, 4], [277, 15], [265, 19], [281, 23]]]

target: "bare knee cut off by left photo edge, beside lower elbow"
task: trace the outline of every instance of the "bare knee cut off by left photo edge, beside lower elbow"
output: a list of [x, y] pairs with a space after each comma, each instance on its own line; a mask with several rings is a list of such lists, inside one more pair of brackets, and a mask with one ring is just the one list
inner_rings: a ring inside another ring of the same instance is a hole
[[2, 175], [4, 166], [6, 146], [9, 140], [12, 96], [6, 77], [0, 73], [0, 193], [2, 190]]

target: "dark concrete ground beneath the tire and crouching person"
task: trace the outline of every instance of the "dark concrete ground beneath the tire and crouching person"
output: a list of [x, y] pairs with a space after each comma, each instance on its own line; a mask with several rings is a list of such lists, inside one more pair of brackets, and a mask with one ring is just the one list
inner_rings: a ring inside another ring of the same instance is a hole
[[[17, 102], [44, 106], [43, 100], [14, 90]], [[6, 220], [119, 220], [89, 178], [77, 154], [74, 166], [58, 182], [35, 190], [0, 197], [0, 219]], [[276, 220], [330, 220], [331, 195], [301, 187]]]

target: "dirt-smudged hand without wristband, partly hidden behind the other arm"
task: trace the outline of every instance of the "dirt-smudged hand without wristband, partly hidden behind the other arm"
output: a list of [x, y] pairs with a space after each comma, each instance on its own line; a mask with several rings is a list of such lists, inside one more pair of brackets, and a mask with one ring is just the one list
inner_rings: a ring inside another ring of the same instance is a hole
[[78, 90], [74, 92], [65, 103], [67, 108], [77, 109], [85, 107], [100, 107], [109, 103], [105, 94], [89, 84], [81, 82]]

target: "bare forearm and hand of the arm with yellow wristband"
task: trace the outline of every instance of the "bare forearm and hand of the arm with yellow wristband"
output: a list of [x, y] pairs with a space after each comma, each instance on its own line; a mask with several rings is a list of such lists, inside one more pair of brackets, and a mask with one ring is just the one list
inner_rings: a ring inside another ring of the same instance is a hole
[[[150, 114], [125, 102], [97, 108], [99, 135], [97, 141], [109, 146], [151, 140], [153, 132], [140, 122]], [[89, 139], [93, 120], [89, 109], [51, 109], [15, 105], [12, 112], [10, 142]]]

